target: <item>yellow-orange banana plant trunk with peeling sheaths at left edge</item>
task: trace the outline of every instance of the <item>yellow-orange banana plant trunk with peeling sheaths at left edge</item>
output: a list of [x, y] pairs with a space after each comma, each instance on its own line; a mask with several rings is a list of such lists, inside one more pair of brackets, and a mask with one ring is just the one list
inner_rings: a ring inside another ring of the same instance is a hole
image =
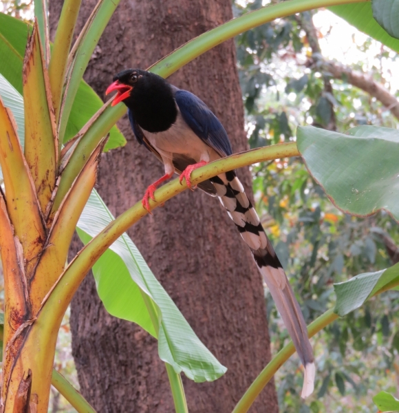
[[[58, 133], [39, 24], [23, 62], [25, 145], [12, 111], [0, 98], [0, 252], [5, 312], [0, 412], [47, 412], [58, 324], [45, 332], [40, 315], [63, 273], [69, 243], [96, 183], [105, 139], [51, 215], [57, 182]], [[64, 160], [65, 162], [65, 160]], [[40, 337], [40, 338], [39, 338]], [[44, 343], [44, 345], [43, 345]]]

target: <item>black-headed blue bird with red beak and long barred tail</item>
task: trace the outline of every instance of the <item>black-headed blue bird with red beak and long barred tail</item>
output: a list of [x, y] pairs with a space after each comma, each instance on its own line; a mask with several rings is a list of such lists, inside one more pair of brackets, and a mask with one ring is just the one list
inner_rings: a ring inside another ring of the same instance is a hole
[[[162, 182], [174, 173], [192, 188], [191, 173], [208, 162], [233, 153], [230, 140], [219, 119], [195, 94], [168, 83], [164, 78], [140, 69], [127, 69], [114, 76], [106, 95], [116, 91], [111, 106], [124, 103], [140, 145], [144, 145], [164, 164], [164, 176], [144, 193], [142, 205], [150, 211], [149, 198]], [[261, 275], [292, 338], [304, 366], [301, 396], [314, 390], [313, 350], [298, 301], [288, 277], [266, 235], [257, 212], [248, 199], [235, 171], [197, 185], [208, 195], [218, 197], [250, 248]]]

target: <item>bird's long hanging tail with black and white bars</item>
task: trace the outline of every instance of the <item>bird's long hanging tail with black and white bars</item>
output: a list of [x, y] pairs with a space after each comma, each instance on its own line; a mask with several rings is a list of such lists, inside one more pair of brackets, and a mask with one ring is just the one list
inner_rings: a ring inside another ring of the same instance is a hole
[[220, 202], [252, 251], [259, 271], [268, 284], [277, 309], [294, 342], [296, 352], [305, 367], [301, 394], [305, 398], [314, 390], [313, 350], [301, 308], [296, 301], [290, 282], [235, 172], [221, 174], [212, 178], [211, 181], [215, 185]]

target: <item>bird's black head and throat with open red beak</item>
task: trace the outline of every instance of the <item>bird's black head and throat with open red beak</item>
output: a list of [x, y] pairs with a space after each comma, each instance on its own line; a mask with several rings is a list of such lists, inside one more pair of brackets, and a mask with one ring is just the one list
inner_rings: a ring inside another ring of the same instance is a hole
[[114, 83], [105, 92], [118, 92], [111, 106], [125, 103], [142, 129], [164, 131], [175, 122], [177, 108], [173, 90], [164, 78], [147, 70], [127, 69], [112, 80]]

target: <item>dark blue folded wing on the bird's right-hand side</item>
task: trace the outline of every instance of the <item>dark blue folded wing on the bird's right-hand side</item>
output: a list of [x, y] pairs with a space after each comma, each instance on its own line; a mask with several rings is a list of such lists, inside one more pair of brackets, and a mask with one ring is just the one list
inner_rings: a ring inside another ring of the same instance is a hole
[[187, 125], [206, 145], [215, 149], [221, 156], [233, 153], [222, 123], [200, 98], [186, 90], [177, 90], [175, 100]]

